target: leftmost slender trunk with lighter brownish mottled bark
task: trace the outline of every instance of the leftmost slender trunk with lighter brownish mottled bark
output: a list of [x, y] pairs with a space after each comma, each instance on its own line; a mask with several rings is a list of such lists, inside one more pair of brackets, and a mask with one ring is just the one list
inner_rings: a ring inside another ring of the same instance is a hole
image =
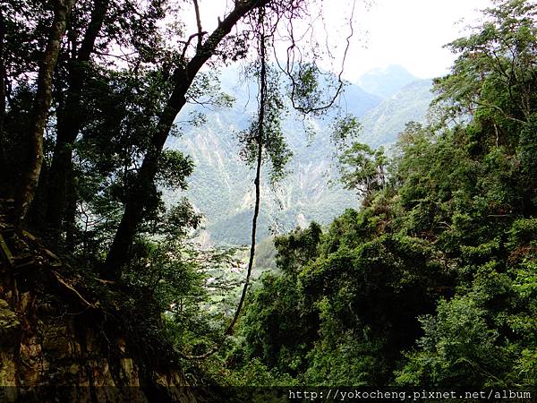
[[34, 99], [33, 121], [29, 135], [28, 170], [23, 173], [20, 190], [15, 198], [14, 221], [17, 226], [20, 226], [22, 220], [26, 217], [38, 186], [43, 164], [43, 133], [52, 99], [52, 74], [54, 73], [61, 41], [65, 33], [67, 19], [75, 2], [76, 0], [55, 0], [54, 21], [50, 28], [47, 47], [38, 72], [38, 90]]

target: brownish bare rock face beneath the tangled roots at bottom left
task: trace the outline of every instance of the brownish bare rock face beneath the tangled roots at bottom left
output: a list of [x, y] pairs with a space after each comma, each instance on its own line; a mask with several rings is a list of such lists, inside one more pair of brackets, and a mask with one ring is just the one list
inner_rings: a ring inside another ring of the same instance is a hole
[[31, 317], [30, 299], [0, 299], [0, 401], [191, 401], [179, 371], [149, 368], [123, 337], [103, 343], [78, 318]]

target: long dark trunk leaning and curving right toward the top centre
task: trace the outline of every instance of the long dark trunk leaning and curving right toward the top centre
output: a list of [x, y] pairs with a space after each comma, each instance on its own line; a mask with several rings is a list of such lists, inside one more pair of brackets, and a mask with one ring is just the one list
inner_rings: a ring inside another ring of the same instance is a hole
[[168, 133], [174, 124], [175, 116], [177, 116], [186, 103], [185, 95], [192, 84], [194, 76], [200, 71], [201, 66], [214, 55], [217, 45], [232, 30], [234, 25], [251, 10], [267, 4], [268, 1], [249, 0], [235, 2], [234, 10], [223, 21], [218, 23], [217, 29], [198, 48], [196, 55], [192, 57], [186, 67], [175, 70], [175, 89], [160, 116], [157, 130], [151, 138], [149, 150], [143, 159], [136, 178], [136, 184], [133, 186], [132, 193], [126, 202], [124, 215], [107, 255], [105, 269], [109, 271], [109, 275], [113, 277], [120, 275], [124, 264], [128, 261], [132, 239], [136, 227], [140, 225], [143, 219], [145, 201], [149, 199], [149, 192], [153, 187], [152, 184], [158, 171], [158, 159]]

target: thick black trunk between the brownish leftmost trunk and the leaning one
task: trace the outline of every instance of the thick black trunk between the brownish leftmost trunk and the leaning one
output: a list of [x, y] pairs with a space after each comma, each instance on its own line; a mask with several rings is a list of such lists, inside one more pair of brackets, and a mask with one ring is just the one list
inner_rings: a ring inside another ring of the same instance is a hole
[[47, 199], [44, 227], [59, 234], [65, 216], [68, 196], [68, 180], [72, 174], [72, 147], [81, 130], [84, 111], [81, 107], [81, 93], [85, 83], [85, 64], [90, 61], [95, 40], [103, 26], [109, 0], [96, 0], [90, 22], [76, 57], [71, 61], [69, 88], [64, 107], [58, 111], [55, 149], [47, 183]]

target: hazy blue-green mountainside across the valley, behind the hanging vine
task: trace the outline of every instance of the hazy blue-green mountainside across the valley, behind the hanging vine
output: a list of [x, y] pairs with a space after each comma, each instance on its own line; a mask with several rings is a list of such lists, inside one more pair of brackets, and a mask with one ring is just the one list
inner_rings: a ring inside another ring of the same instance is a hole
[[[257, 105], [255, 86], [241, 82], [240, 77], [239, 72], [226, 70], [221, 78], [222, 89], [234, 95], [234, 107], [211, 110], [189, 105], [179, 120], [189, 114], [203, 113], [206, 123], [184, 129], [181, 137], [167, 143], [167, 147], [190, 155], [195, 169], [189, 179], [189, 189], [168, 193], [166, 199], [174, 201], [186, 196], [192, 201], [205, 217], [204, 229], [199, 231], [197, 240], [208, 246], [250, 242], [253, 171], [238, 157], [236, 134], [248, 127]], [[362, 137], [367, 139], [362, 141], [372, 145], [393, 142], [406, 121], [420, 120], [427, 107], [422, 94], [425, 83], [415, 84], [418, 99], [412, 99], [412, 85], [384, 101], [356, 85], [346, 88], [340, 106], [362, 119]], [[405, 103], [400, 107], [402, 113], [398, 111], [399, 100]], [[386, 114], [392, 109], [390, 119]], [[305, 133], [306, 123], [313, 127], [313, 136]], [[305, 227], [311, 220], [328, 223], [346, 208], [358, 206], [356, 194], [346, 191], [337, 182], [329, 124], [328, 119], [311, 118], [304, 122], [293, 112], [284, 119], [286, 141], [294, 156], [288, 166], [289, 175], [276, 189], [271, 188], [267, 175], [264, 176], [258, 240], [274, 232], [281, 234], [296, 226]], [[387, 124], [385, 130], [384, 124]], [[263, 169], [267, 174], [268, 167]]]

